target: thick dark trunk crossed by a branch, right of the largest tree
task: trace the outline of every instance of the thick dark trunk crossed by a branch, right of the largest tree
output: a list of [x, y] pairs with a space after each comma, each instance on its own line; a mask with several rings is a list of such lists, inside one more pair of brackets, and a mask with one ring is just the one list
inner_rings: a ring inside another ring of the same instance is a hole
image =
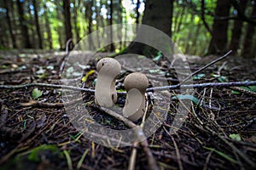
[[[230, 15], [230, 1], [218, 0], [215, 8], [215, 18], [228, 17]], [[224, 54], [228, 42], [229, 20], [214, 20], [212, 26], [212, 39], [208, 48], [208, 54]]]

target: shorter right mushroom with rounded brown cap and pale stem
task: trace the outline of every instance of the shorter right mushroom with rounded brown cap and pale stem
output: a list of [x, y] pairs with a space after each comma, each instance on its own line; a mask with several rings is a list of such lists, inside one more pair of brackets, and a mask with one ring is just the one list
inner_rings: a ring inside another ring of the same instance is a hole
[[127, 90], [123, 116], [131, 121], [137, 121], [145, 111], [145, 92], [148, 88], [148, 78], [139, 72], [134, 72], [125, 77]]

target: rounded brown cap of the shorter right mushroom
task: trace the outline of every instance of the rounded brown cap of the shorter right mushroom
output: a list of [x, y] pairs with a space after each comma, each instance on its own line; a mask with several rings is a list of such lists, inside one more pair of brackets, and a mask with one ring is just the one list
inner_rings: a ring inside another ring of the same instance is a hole
[[148, 78], [140, 72], [134, 72], [125, 77], [125, 89], [137, 88], [139, 91], [144, 92], [148, 88]]

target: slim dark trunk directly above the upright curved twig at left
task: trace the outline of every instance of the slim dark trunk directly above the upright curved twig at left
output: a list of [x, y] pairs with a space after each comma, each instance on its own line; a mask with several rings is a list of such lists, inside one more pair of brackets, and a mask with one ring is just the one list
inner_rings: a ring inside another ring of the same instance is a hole
[[[70, 14], [70, 2], [69, 0], [63, 0], [64, 9], [64, 25], [66, 34], [66, 43], [69, 39], [72, 39], [72, 26], [71, 26], [71, 14]], [[73, 49], [73, 41], [69, 43], [68, 50]]]

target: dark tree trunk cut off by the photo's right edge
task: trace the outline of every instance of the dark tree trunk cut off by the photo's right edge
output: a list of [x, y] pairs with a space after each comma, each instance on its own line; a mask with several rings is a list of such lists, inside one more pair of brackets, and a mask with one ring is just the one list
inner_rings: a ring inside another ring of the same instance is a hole
[[[251, 14], [251, 17], [256, 15], [256, 4], [253, 5], [253, 12]], [[255, 48], [253, 48], [253, 37], [255, 32], [255, 26], [252, 24], [247, 25], [247, 32], [246, 32], [246, 37], [243, 42], [243, 52], [241, 54], [242, 57], [244, 58], [254, 58], [254, 51]]]

